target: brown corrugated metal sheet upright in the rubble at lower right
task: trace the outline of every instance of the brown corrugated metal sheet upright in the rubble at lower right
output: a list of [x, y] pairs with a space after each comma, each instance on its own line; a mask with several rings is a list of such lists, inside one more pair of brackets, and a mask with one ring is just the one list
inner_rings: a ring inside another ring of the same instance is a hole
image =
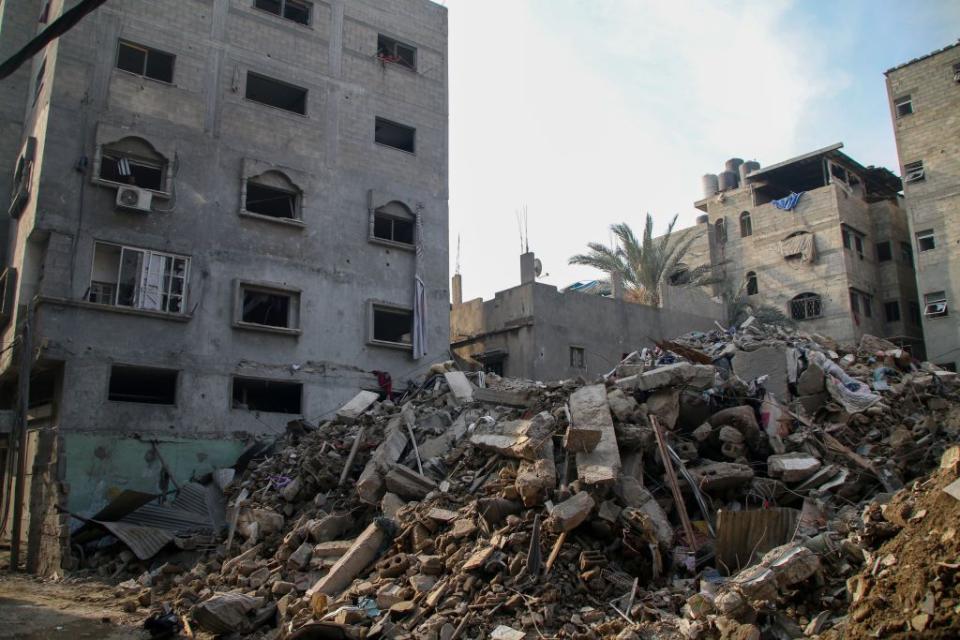
[[758, 562], [764, 553], [793, 540], [797, 509], [720, 511], [717, 514], [717, 562], [728, 572]]

